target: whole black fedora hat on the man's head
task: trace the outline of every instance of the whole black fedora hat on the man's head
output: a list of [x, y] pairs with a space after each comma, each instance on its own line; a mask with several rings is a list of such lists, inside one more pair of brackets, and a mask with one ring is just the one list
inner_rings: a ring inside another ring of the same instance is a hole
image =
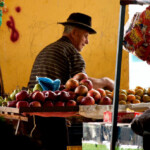
[[82, 13], [72, 13], [66, 22], [58, 22], [62, 25], [72, 25], [87, 30], [90, 34], [95, 34], [96, 31], [91, 27], [91, 17]]

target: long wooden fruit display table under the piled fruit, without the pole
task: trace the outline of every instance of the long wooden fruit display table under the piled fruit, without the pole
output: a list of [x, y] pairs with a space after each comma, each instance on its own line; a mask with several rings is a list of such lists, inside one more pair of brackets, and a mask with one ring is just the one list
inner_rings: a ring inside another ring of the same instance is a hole
[[[119, 105], [119, 111], [144, 111], [150, 108], [150, 103]], [[103, 119], [105, 111], [112, 112], [113, 105], [79, 105], [79, 106], [55, 106], [55, 107], [0, 107], [0, 116], [10, 120], [17, 120], [16, 134], [20, 121], [28, 122], [32, 115], [42, 117], [71, 117], [83, 116], [86, 118]]]

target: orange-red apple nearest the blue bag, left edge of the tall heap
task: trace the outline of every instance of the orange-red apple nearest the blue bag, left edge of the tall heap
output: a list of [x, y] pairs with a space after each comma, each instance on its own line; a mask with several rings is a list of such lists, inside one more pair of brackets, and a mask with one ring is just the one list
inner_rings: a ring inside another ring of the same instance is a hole
[[68, 90], [74, 90], [77, 86], [79, 86], [79, 81], [73, 78], [70, 78], [65, 84], [65, 88]]

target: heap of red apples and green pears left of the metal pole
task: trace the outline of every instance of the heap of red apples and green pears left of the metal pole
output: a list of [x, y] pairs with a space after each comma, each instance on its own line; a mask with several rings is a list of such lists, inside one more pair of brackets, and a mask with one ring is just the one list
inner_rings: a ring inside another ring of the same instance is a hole
[[[53, 107], [76, 105], [110, 105], [111, 91], [102, 88], [94, 89], [91, 80], [85, 73], [78, 73], [70, 78], [65, 85], [60, 85], [57, 91], [42, 91], [36, 84], [32, 91], [18, 90], [4, 100], [2, 106], [7, 107]], [[6, 102], [6, 103], [4, 103]]]

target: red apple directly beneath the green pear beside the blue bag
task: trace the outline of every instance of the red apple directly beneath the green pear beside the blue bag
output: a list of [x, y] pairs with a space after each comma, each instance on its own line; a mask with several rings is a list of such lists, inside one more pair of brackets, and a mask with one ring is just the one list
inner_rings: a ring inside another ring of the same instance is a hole
[[40, 101], [40, 102], [44, 102], [45, 101], [45, 96], [41, 91], [36, 91], [34, 92], [34, 94], [32, 95], [32, 100], [33, 101]]

